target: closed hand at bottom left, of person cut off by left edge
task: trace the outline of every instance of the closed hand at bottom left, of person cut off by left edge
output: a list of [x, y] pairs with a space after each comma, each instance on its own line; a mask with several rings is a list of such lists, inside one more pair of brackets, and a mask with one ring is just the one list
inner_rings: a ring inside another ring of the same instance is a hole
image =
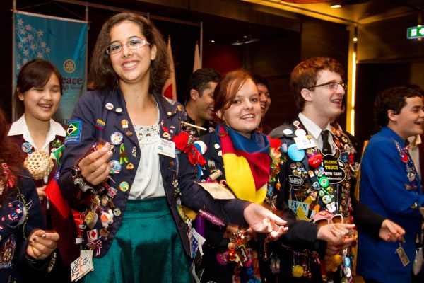
[[55, 232], [48, 233], [41, 229], [33, 231], [28, 238], [30, 244], [26, 250], [27, 254], [31, 258], [44, 260], [57, 248], [59, 238], [59, 234]]

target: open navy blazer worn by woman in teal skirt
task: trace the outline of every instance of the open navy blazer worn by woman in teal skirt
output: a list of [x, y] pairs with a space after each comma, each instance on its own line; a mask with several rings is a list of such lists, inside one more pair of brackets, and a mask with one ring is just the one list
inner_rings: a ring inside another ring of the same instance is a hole
[[[175, 100], [169, 100], [158, 94], [155, 94], [154, 97], [159, 107], [160, 123], [163, 122], [160, 127], [160, 137], [171, 141], [176, 134], [182, 132], [181, 122], [186, 120], [186, 112], [182, 105]], [[111, 103], [113, 109], [107, 109], [105, 107], [107, 103]], [[117, 111], [118, 108], [121, 109]], [[128, 127], [125, 129], [122, 127], [122, 120], [129, 121]], [[131, 187], [131, 184], [134, 182], [140, 158], [139, 141], [136, 137], [134, 127], [131, 124], [131, 119], [126, 110], [124, 96], [120, 89], [115, 91], [89, 91], [78, 100], [76, 108], [73, 110], [71, 122], [72, 121], [78, 121], [76, 125], [79, 125], [81, 129], [76, 129], [80, 132], [74, 135], [73, 139], [66, 139], [65, 141], [62, 171], [59, 180], [62, 194], [76, 209], [84, 207], [83, 201], [86, 200], [90, 194], [81, 193], [78, 185], [73, 184], [71, 166], [74, 166], [80, 158], [90, 152], [90, 147], [93, 146], [95, 142], [103, 141], [102, 143], [104, 143], [104, 141], [110, 141], [112, 133], [121, 132], [123, 134], [122, 142], [126, 146], [126, 151], [131, 152], [133, 147], [135, 147], [137, 151], [136, 156], [133, 154], [126, 155], [129, 162], [134, 164], [134, 168], [127, 169], [124, 164], [122, 166], [122, 171], [112, 176], [115, 184], [110, 180], [107, 181], [110, 186], [118, 189], [117, 195], [113, 198], [113, 203], [115, 207], [119, 207], [121, 214], [119, 216], [114, 216], [113, 223], [108, 227], [109, 235], [107, 238], [101, 237], [102, 248], [98, 255], [98, 257], [101, 258], [107, 253], [107, 250], [109, 250], [114, 235], [119, 229], [122, 216], [125, 213], [129, 190], [126, 190], [126, 192], [119, 190], [119, 184], [127, 182], [129, 183], [129, 187]], [[96, 127], [96, 122], [98, 123], [98, 127]], [[104, 122], [104, 125], [102, 125], [102, 122]], [[73, 130], [75, 130], [75, 128], [73, 128]], [[68, 132], [70, 131], [71, 130], [68, 129]], [[165, 132], [168, 134], [165, 134]], [[119, 157], [119, 149], [115, 149], [110, 160], [119, 160]], [[160, 173], [163, 178], [167, 202], [187, 255], [190, 255], [189, 239], [187, 236], [188, 230], [187, 224], [184, 223], [177, 212], [177, 198], [175, 197], [177, 187], [181, 192], [179, 199], [182, 204], [187, 205], [187, 207], [195, 211], [206, 209], [206, 211], [215, 214], [228, 224], [245, 224], [243, 211], [248, 203], [242, 200], [213, 200], [206, 190], [194, 183], [198, 171], [195, 166], [189, 163], [186, 154], [177, 154], [177, 158], [160, 155], [159, 158]], [[95, 228], [102, 228], [100, 219]]]

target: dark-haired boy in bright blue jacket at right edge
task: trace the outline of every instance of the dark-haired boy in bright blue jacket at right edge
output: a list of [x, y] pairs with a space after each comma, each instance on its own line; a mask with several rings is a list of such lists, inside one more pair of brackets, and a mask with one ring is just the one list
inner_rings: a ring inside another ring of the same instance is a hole
[[[406, 230], [404, 241], [380, 243], [359, 235], [358, 274], [366, 282], [411, 282], [420, 247], [424, 195], [406, 139], [423, 134], [423, 95], [412, 88], [389, 88], [375, 99], [380, 131], [368, 143], [360, 168], [360, 202]], [[421, 258], [422, 260], [422, 258]], [[422, 261], [417, 266], [420, 270]]]

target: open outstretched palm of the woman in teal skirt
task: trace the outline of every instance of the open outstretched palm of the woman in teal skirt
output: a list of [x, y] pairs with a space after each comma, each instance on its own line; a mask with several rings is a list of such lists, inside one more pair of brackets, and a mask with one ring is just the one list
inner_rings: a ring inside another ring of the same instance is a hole
[[253, 231], [258, 233], [269, 233], [271, 238], [278, 238], [288, 231], [286, 221], [270, 212], [259, 204], [251, 203], [243, 212], [243, 216]]

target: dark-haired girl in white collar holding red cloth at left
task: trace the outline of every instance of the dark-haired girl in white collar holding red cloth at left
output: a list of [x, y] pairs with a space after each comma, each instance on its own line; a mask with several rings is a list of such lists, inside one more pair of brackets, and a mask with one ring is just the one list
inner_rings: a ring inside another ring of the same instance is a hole
[[[61, 100], [61, 85], [61, 74], [52, 63], [44, 59], [33, 59], [25, 64], [18, 74], [14, 95], [15, 110], [20, 118], [8, 125], [8, 136], [20, 146], [15, 158], [21, 164], [24, 164], [25, 158], [37, 152], [45, 153], [47, 159], [52, 154], [56, 158], [55, 161], [40, 162], [45, 165], [45, 168], [38, 168], [45, 171], [43, 177], [42, 173], [40, 176], [38, 173], [33, 174], [47, 229], [53, 229], [60, 235], [57, 265], [49, 275], [40, 274], [40, 279], [70, 282], [71, 262], [78, 258], [78, 233], [69, 205], [62, 200], [57, 201], [61, 192], [57, 186], [53, 186], [57, 182], [53, 179], [57, 173], [57, 164], [60, 163], [66, 135], [66, 127], [53, 120]], [[47, 189], [48, 184], [50, 186]], [[46, 189], [53, 196], [52, 199], [47, 197]]]

